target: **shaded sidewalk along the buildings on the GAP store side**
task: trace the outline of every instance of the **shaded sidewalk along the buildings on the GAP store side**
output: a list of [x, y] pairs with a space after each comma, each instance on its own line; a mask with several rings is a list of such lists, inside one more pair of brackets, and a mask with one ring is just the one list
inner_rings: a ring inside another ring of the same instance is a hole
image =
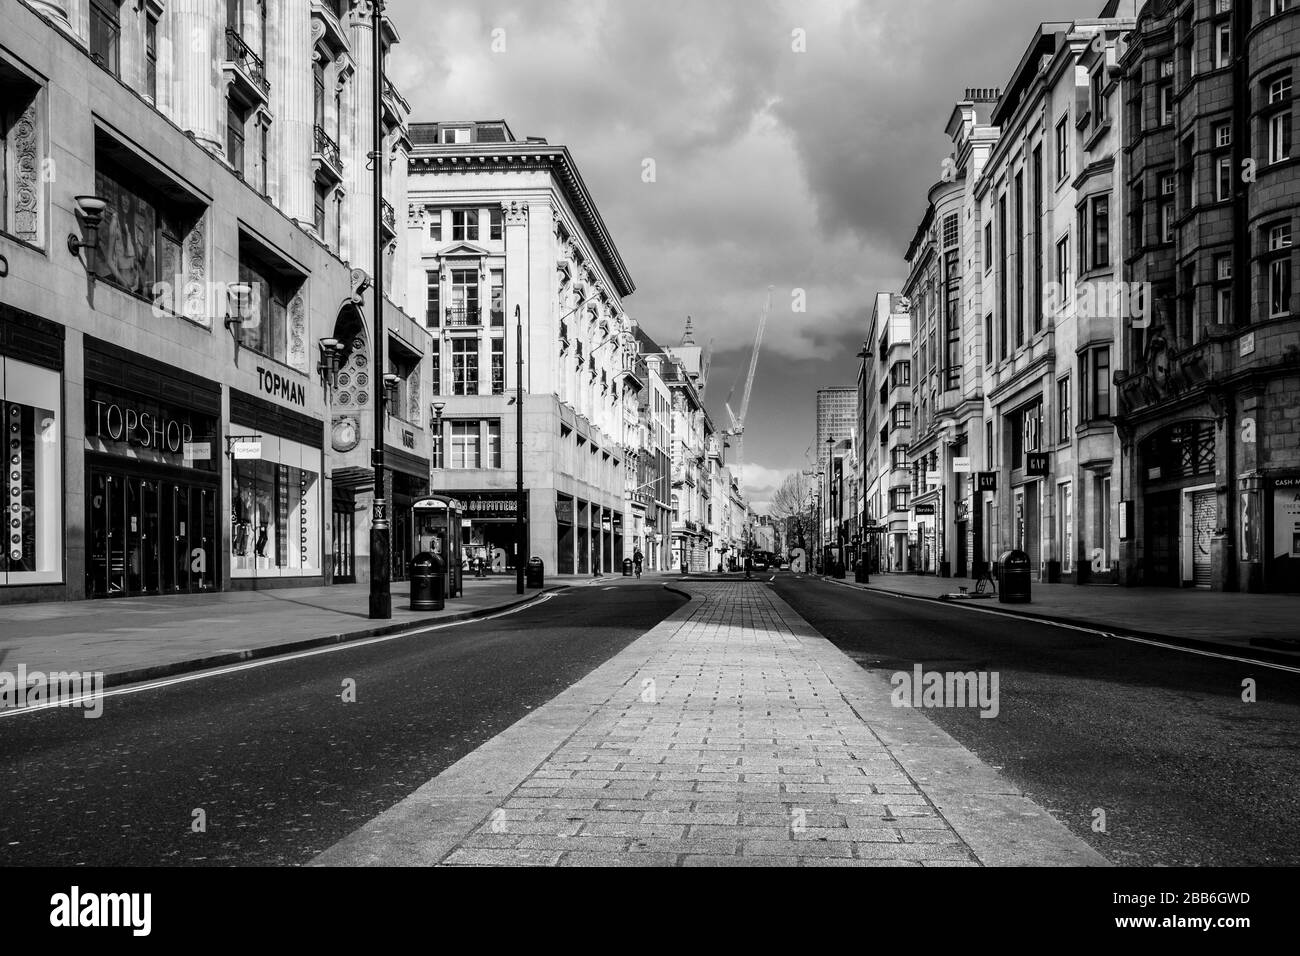
[[[827, 579], [833, 580], [833, 579]], [[909, 597], [941, 598], [958, 588], [975, 591], [966, 578], [874, 574], [870, 584], [855, 588]], [[1005, 605], [997, 597], [953, 601], [956, 606], [988, 607], [1044, 620], [1118, 631], [1222, 653], [1251, 653], [1300, 662], [1300, 596], [1242, 594], [1192, 588], [1118, 588], [1076, 584], [1031, 585], [1032, 602]], [[1261, 654], [1261, 652], [1265, 652]]]

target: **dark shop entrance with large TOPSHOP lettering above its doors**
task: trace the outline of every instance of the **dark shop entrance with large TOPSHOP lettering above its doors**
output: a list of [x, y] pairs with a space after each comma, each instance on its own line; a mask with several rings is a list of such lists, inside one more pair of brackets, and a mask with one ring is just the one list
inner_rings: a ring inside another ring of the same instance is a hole
[[86, 338], [86, 594], [221, 588], [220, 386]]

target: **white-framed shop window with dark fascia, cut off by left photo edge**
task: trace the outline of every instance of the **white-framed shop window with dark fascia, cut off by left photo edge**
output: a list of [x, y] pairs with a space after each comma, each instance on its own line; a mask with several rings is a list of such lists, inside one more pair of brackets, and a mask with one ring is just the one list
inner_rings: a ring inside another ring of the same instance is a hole
[[0, 306], [4, 549], [0, 601], [64, 581], [61, 325]]

